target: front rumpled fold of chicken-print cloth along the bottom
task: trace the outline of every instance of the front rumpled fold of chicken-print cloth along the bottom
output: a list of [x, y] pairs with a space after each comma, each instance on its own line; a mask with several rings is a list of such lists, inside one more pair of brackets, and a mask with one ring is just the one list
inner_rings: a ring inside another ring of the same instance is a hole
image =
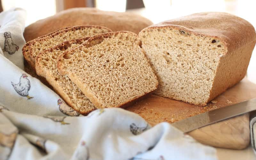
[[137, 114], [119, 108], [85, 117], [39, 117], [2, 107], [0, 119], [0, 159], [217, 159], [214, 148], [170, 124], [150, 128]]

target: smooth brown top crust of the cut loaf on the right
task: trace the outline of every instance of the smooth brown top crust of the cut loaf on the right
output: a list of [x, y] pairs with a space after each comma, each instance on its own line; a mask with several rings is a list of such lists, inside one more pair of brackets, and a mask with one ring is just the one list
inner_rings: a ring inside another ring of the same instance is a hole
[[190, 34], [218, 38], [225, 44], [224, 48], [227, 49], [227, 53], [231, 53], [256, 39], [255, 29], [251, 23], [240, 17], [222, 12], [195, 13], [167, 20], [144, 28], [140, 34], [159, 27], [180, 29], [181, 34], [184, 34], [183, 31], [185, 31]]

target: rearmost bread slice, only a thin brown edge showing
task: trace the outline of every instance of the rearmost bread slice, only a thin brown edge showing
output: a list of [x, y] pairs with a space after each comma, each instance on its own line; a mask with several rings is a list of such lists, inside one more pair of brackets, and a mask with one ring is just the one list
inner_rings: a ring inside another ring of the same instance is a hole
[[[58, 30], [56, 30], [56, 31], [53, 31], [53, 32], [49, 33], [49, 34], [45, 34], [45, 35], [42, 35], [42, 36], [40, 36], [40, 37], [37, 37], [37, 38], [34, 39], [34, 40], [37, 40], [37, 39], [40, 39], [40, 38], [44, 38], [44, 37], [48, 37], [48, 36], [50, 36], [50, 35], [52, 35], [52, 34], [54, 34], [54, 33], [57, 33], [57, 32], [59, 32], [59, 31], [62, 31], [62, 30], [68, 29], [68, 28], [71, 28], [71, 27], [60, 28], [60, 29], [58, 29]], [[26, 42], [26, 44], [25, 44], [25, 45], [23, 46], [23, 48], [22, 48], [22, 54], [23, 54], [25, 60], [28, 62], [28, 65], [30, 65], [30, 66], [33, 66], [33, 62], [32, 62], [32, 60], [31, 60], [31, 58], [30, 58], [30, 56], [29, 56], [29, 44], [30, 44], [32, 41], [33, 41], [33, 40]], [[31, 68], [31, 67], [28, 68], [28, 71], [31, 71], [32, 74], [36, 73], [36, 71], [30, 70], [30, 69], [33, 69], [33, 68]]]

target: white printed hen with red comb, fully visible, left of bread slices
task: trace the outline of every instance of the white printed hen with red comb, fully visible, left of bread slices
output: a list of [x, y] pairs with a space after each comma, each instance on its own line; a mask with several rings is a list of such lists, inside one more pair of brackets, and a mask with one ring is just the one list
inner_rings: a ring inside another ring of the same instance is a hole
[[27, 78], [28, 76], [26, 74], [22, 74], [22, 76], [20, 76], [20, 82], [18, 84], [15, 84], [12, 82], [12, 86], [14, 88], [14, 90], [21, 96], [23, 97], [27, 97], [28, 100], [34, 97], [30, 97], [28, 95], [28, 91], [30, 89], [30, 81]]

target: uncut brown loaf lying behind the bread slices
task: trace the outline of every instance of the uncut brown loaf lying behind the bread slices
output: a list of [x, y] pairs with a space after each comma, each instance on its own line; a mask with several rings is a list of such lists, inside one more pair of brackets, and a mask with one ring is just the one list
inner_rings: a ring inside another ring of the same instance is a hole
[[113, 31], [131, 31], [138, 34], [143, 28], [152, 25], [152, 22], [132, 13], [72, 8], [29, 25], [25, 28], [24, 37], [28, 42], [59, 28], [78, 25], [105, 26]]

